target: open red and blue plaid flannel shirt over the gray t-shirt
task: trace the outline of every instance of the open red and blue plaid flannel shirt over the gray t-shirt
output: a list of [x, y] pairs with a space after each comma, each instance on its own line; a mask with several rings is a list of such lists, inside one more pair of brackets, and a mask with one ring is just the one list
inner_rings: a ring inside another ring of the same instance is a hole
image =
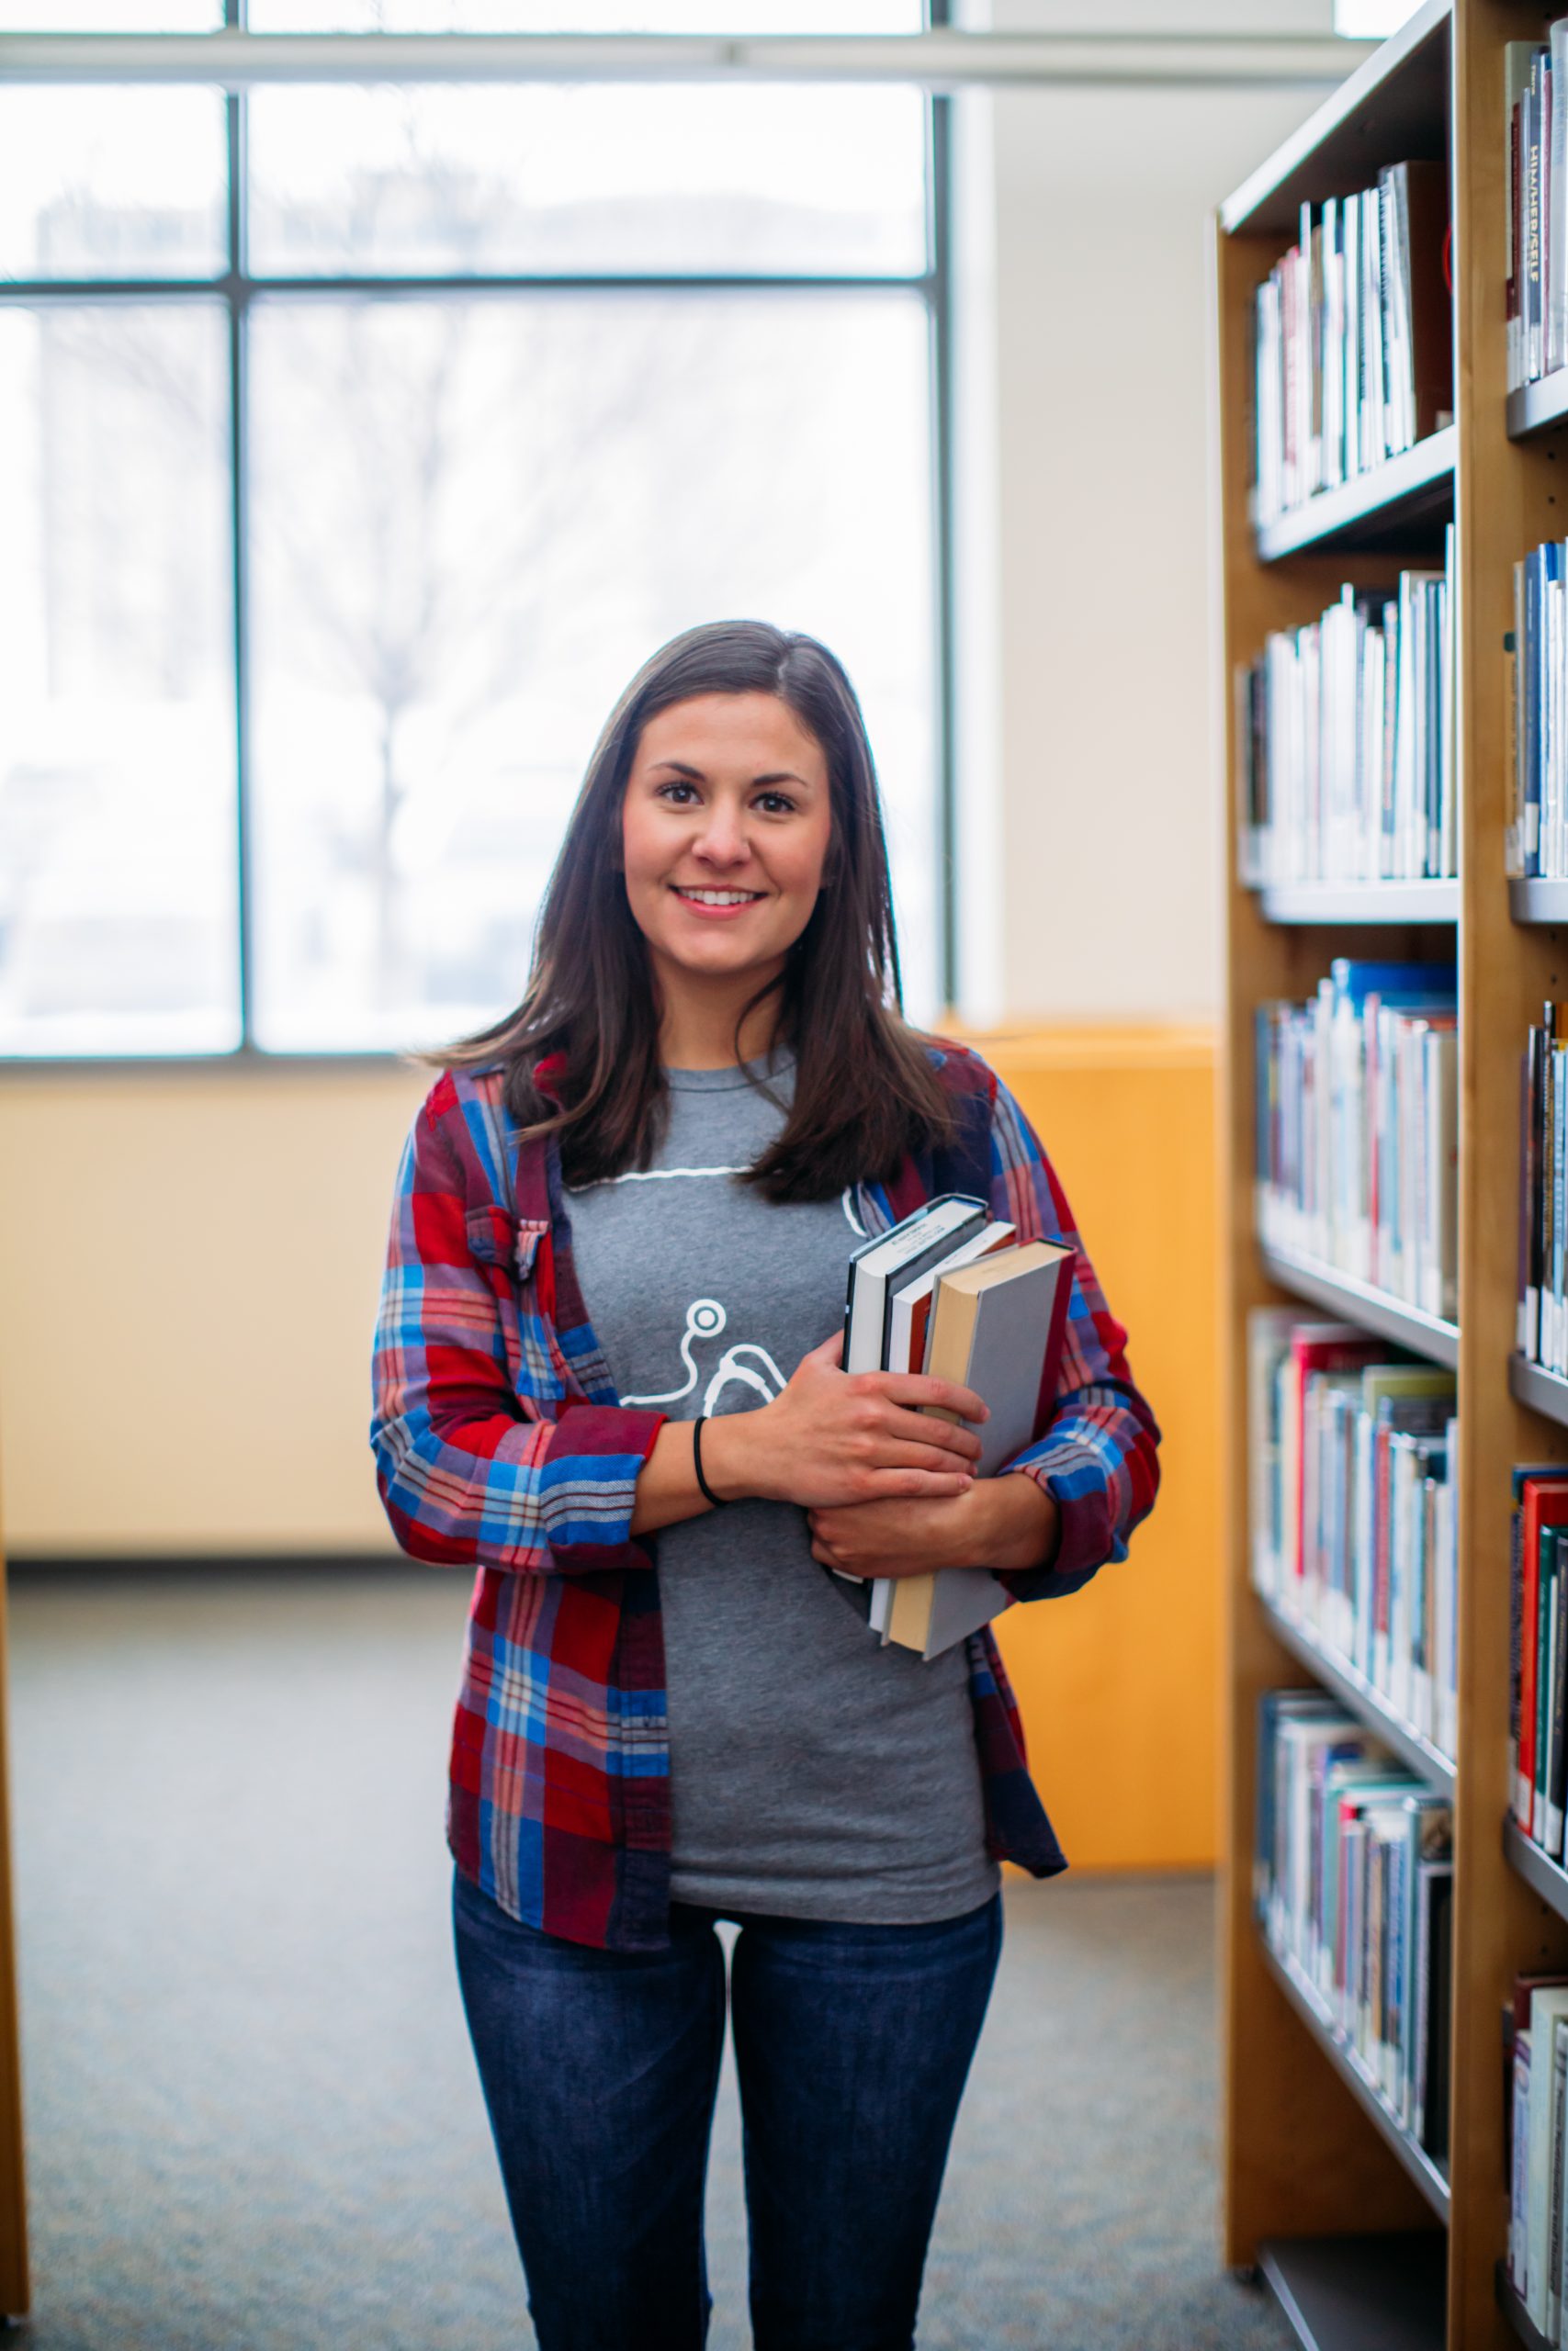
[[[1051, 1566], [1013, 1599], [1077, 1592], [1159, 1483], [1159, 1429], [1126, 1366], [1067, 1201], [994, 1072], [931, 1056], [959, 1138], [860, 1185], [882, 1232], [936, 1192], [978, 1192], [1020, 1239], [1077, 1248], [1056, 1411], [1009, 1465], [1060, 1512]], [[541, 1079], [548, 1072], [541, 1070]], [[571, 1260], [555, 1145], [520, 1143], [501, 1072], [447, 1072], [397, 1171], [374, 1357], [371, 1448], [404, 1552], [477, 1568], [451, 1733], [447, 1841], [512, 1918], [602, 1949], [668, 1942], [670, 1754], [656, 1538], [630, 1533], [663, 1413], [616, 1401]], [[987, 1848], [1065, 1869], [1030, 1784], [990, 1627], [969, 1641]]]

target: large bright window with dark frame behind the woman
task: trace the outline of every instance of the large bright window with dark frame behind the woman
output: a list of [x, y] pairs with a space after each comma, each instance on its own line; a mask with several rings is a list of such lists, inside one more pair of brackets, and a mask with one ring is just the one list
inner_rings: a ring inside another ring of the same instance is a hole
[[[254, 31], [724, 14], [249, 0]], [[214, 9], [0, 0], [106, 19]], [[846, 661], [929, 1011], [929, 132], [886, 87], [0, 82], [0, 1053], [491, 1018], [614, 696], [729, 614]]]

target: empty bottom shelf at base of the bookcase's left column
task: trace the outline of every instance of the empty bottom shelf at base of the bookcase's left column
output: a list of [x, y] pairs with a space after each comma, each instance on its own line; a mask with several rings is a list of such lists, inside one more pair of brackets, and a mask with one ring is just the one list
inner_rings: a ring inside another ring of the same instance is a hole
[[1269, 2238], [1265, 2285], [1305, 2351], [1443, 2351], [1443, 2233]]

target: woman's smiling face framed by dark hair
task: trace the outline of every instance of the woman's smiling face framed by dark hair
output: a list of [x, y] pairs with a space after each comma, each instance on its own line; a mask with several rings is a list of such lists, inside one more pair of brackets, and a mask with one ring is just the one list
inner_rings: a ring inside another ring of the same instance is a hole
[[811, 919], [830, 837], [827, 759], [776, 694], [696, 694], [656, 712], [621, 849], [661, 980], [762, 987]]

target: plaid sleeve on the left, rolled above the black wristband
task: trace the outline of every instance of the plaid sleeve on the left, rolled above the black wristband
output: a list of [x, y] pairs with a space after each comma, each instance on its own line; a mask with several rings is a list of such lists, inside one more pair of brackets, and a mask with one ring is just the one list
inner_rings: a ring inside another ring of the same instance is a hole
[[397, 1168], [371, 1368], [376, 1486], [397, 1542], [522, 1575], [646, 1568], [630, 1519], [663, 1413], [564, 1404], [529, 1418], [510, 1371], [510, 1272], [475, 1258], [468, 1225], [425, 1100]]

